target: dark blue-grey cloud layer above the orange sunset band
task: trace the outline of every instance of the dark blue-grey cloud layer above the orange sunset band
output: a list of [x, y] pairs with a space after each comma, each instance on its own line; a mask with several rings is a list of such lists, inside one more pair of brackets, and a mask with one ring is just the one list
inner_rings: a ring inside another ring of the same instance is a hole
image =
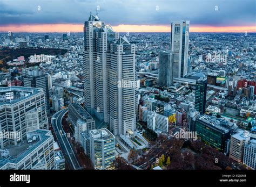
[[255, 0], [0, 0], [0, 25], [82, 24], [90, 10], [95, 13], [99, 6], [100, 19], [111, 25], [169, 25], [171, 20], [186, 19], [193, 25], [246, 26], [255, 25], [255, 3]]

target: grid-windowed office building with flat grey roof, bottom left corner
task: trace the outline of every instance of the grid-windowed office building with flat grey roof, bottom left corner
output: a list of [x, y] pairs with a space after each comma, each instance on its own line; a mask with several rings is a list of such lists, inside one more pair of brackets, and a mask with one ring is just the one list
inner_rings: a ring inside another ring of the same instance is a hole
[[36, 130], [26, 134], [17, 146], [0, 149], [0, 169], [54, 169], [55, 157], [51, 131]]

